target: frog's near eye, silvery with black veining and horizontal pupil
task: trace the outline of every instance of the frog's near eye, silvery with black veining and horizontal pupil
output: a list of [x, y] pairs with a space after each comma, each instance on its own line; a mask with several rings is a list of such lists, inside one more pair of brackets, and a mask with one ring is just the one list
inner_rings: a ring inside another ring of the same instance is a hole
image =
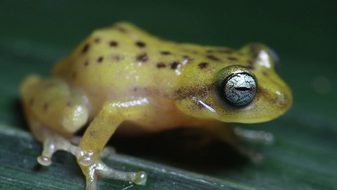
[[[246, 106], [256, 96], [257, 82], [249, 70], [239, 65], [224, 68], [218, 77], [216, 91], [232, 106]], [[220, 71], [221, 72], [221, 71]]]

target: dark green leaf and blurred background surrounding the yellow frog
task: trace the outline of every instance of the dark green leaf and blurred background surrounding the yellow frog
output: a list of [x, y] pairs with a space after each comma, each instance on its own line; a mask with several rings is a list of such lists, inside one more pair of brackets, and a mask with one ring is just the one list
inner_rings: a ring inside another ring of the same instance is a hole
[[[270, 146], [250, 145], [263, 153], [263, 163], [253, 164], [220, 142], [195, 148], [197, 141], [186, 140], [191, 134], [180, 130], [113, 138], [118, 154], [107, 163], [149, 175], [146, 186], [134, 189], [336, 189], [335, 12], [334, 1], [1, 1], [0, 187], [84, 188], [79, 167], [66, 153], [57, 153], [50, 167], [37, 166], [41, 145], [27, 134], [18, 85], [32, 72], [47, 76], [92, 30], [127, 20], [176, 42], [268, 44], [280, 57], [279, 74], [293, 89], [286, 115], [240, 125], [275, 135]], [[100, 182], [100, 189], [128, 186]]]

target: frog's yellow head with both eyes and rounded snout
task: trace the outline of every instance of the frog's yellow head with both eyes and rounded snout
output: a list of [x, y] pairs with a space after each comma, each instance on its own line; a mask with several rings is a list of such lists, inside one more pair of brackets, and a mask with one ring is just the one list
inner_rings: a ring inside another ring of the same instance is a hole
[[186, 75], [188, 96], [178, 101], [178, 108], [197, 118], [244, 123], [265, 122], [285, 113], [292, 103], [291, 89], [275, 72], [275, 53], [263, 44], [249, 44], [239, 52], [251, 61], [221, 67], [214, 63], [207, 72], [194, 69]]

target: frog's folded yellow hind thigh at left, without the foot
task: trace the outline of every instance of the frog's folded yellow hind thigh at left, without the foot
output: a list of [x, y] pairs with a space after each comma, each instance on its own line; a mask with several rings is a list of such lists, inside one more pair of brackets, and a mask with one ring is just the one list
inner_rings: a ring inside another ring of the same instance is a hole
[[43, 139], [41, 125], [70, 137], [88, 120], [86, 96], [65, 80], [58, 77], [41, 80], [31, 75], [20, 90], [29, 126], [37, 139]]

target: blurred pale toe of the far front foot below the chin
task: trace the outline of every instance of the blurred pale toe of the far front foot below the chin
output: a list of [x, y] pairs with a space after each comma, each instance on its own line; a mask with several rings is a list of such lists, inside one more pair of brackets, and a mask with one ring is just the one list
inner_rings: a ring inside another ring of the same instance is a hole
[[271, 132], [256, 131], [251, 129], [243, 129], [242, 127], [235, 127], [234, 134], [245, 141], [256, 141], [264, 144], [272, 144], [274, 136]]

